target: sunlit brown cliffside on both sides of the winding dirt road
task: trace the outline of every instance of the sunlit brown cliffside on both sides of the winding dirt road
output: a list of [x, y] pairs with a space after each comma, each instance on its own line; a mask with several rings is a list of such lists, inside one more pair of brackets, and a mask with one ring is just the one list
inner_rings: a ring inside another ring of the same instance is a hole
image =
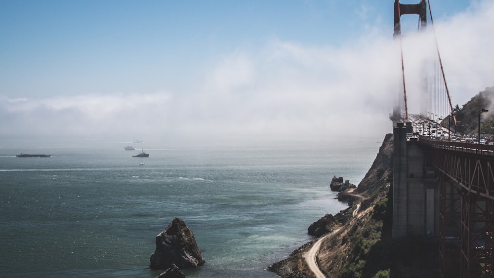
[[[343, 228], [342, 232], [323, 242], [321, 246], [318, 261], [321, 269], [326, 272], [328, 277], [359, 277], [352, 276], [356, 275], [358, 271], [354, 271], [355, 267], [349, 265], [353, 264], [353, 260], [348, 260], [348, 256], [351, 255], [348, 252], [361, 248], [359, 246], [370, 247], [371, 243], [375, 243], [381, 238], [383, 220], [388, 217], [390, 211], [387, 204], [387, 194], [393, 176], [392, 168], [393, 135], [386, 134], [379, 153], [365, 178], [360, 182], [358, 189], [352, 193], [343, 193], [341, 196], [341, 199], [355, 200], [350, 202], [351, 204], [355, 203], [355, 205], [335, 215], [339, 227]], [[359, 195], [360, 198], [355, 198], [355, 195]], [[359, 217], [354, 218], [352, 212], [357, 207], [357, 200], [360, 199], [364, 199], [360, 207], [362, 212]], [[375, 212], [372, 212], [372, 209]], [[366, 238], [365, 242], [362, 241], [363, 237]], [[269, 270], [276, 272], [281, 277], [313, 277], [302, 257], [311, 244], [312, 242], [309, 242], [295, 250], [288, 259], [273, 264]], [[345, 269], [349, 271], [345, 271]], [[339, 276], [340, 273], [349, 276]]]

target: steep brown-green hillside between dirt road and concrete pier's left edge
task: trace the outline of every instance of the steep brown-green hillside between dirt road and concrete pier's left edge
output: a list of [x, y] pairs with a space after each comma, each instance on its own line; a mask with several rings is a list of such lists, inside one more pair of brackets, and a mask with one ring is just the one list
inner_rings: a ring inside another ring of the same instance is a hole
[[[386, 252], [378, 251], [383, 238], [391, 236], [393, 180], [393, 135], [386, 134], [371, 168], [357, 192], [368, 197], [361, 212], [351, 218], [341, 233], [323, 242], [318, 260], [328, 277], [388, 277], [383, 264]], [[376, 252], [379, 256], [376, 256]]]

